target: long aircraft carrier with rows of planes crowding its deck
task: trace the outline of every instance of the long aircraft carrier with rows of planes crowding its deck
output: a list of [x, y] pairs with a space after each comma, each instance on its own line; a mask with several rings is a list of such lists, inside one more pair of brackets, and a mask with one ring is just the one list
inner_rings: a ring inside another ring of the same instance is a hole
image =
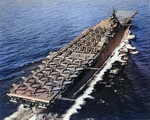
[[87, 28], [60, 50], [50, 52], [38, 69], [27, 78], [22, 77], [21, 84], [13, 84], [7, 93], [10, 101], [24, 107], [47, 108], [55, 99], [71, 98], [129, 34], [136, 13], [114, 10], [108, 19]]

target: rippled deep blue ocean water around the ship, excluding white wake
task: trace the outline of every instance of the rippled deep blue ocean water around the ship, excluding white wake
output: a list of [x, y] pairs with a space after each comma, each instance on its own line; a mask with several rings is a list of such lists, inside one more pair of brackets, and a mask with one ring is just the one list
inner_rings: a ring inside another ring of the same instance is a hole
[[[123, 82], [116, 78], [111, 88], [95, 85], [94, 99], [86, 99], [86, 104], [71, 119], [150, 119], [149, 0], [0, 1], [0, 119], [19, 106], [6, 95], [13, 83], [21, 83], [21, 77], [28, 76], [49, 52], [59, 50], [84, 29], [109, 17], [113, 8], [138, 11], [130, 30], [136, 36], [131, 45], [139, 53], [129, 55], [129, 62], [120, 74]], [[62, 109], [54, 111], [65, 113], [71, 105], [63, 102]]]

